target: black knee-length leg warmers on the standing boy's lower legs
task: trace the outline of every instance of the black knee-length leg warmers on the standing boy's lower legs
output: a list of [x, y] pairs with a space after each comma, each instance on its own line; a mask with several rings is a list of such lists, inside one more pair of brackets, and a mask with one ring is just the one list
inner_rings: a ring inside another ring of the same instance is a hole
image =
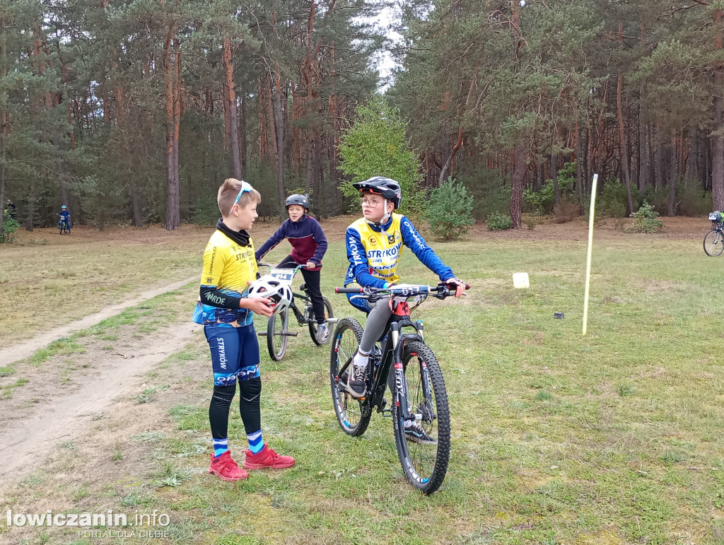
[[[261, 395], [261, 377], [239, 382], [240, 398], [239, 413], [244, 423], [246, 434], [253, 434], [261, 430], [261, 408], [259, 397]], [[214, 386], [209, 404], [209, 422], [211, 423], [211, 436], [214, 439], [226, 439], [229, 433], [229, 409], [236, 393], [236, 384], [231, 386]]]

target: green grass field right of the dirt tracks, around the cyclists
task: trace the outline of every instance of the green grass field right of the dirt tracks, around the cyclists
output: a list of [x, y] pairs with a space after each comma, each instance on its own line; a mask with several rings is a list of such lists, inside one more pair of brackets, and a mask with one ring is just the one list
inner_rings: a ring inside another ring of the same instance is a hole
[[[437, 494], [406, 483], [390, 419], [375, 413], [359, 439], [342, 433], [329, 348], [299, 329], [281, 363], [262, 345], [264, 438], [295, 456], [295, 468], [240, 483], [206, 473], [212, 381], [195, 334], [151, 371], [146, 389], [9, 491], [3, 510], [159, 510], [171, 520], [161, 542], [174, 544], [724, 544], [724, 258], [707, 258], [698, 240], [600, 241], [582, 337], [584, 242], [436, 248], [473, 284], [465, 300], [419, 311], [452, 413], [450, 469]], [[275, 252], [271, 261], [284, 255]], [[361, 319], [330, 295], [344, 269], [334, 242], [324, 291], [337, 316]], [[434, 282], [409, 253], [403, 271], [406, 282]], [[514, 271], [530, 274], [529, 290], [513, 290]], [[182, 294], [190, 315], [195, 288]], [[13, 376], [32, 365], [17, 364]], [[237, 410], [230, 446], [245, 447]], [[7, 543], [121, 542], [0, 524]]]

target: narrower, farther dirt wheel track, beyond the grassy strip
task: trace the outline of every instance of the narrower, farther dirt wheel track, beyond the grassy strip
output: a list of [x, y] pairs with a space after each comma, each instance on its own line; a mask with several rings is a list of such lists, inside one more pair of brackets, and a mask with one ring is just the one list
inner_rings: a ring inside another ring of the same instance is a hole
[[22, 342], [19, 345], [13, 345], [7, 348], [3, 348], [0, 350], [0, 365], [9, 366], [11, 363], [14, 363], [16, 361], [29, 358], [30, 355], [33, 355], [33, 352], [46, 347], [51, 342], [59, 339], [60, 337], [65, 337], [73, 331], [79, 331], [80, 329], [86, 329], [90, 326], [95, 326], [101, 321], [104, 321], [106, 318], [111, 318], [111, 316], [115, 316], [116, 314], [122, 312], [126, 308], [138, 305], [139, 303], [143, 303], [143, 301], [151, 299], [151, 297], [156, 297], [156, 295], [161, 295], [166, 292], [178, 290], [179, 288], [184, 287], [186, 284], [189, 284], [190, 282], [196, 282], [197, 280], [197, 276], [191, 276], [190, 278], [180, 280], [179, 282], [166, 284], [164, 286], [155, 287], [152, 290], [140, 292], [136, 297], [132, 297], [132, 299], [123, 301], [122, 303], [117, 303], [116, 305], [110, 305], [109, 307], [106, 307], [95, 314], [90, 314], [89, 316], [85, 316], [85, 318], [80, 318], [79, 320], [72, 321], [70, 322], [70, 324], [56, 327], [55, 329], [51, 329], [51, 331], [46, 331], [45, 333], [38, 334], [32, 339]]

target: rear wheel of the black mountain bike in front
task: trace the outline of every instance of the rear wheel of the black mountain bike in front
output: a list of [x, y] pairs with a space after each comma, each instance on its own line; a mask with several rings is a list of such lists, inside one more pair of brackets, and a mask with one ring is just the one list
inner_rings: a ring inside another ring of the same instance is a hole
[[352, 356], [362, 340], [362, 326], [354, 318], [342, 318], [334, 330], [329, 358], [329, 380], [332, 383], [332, 402], [337, 421], [345, 434], [361, 436], [369, 426], [371, 413], [365, 414], [360, 400], [352, 397], [343, 384], [347, 381]]

